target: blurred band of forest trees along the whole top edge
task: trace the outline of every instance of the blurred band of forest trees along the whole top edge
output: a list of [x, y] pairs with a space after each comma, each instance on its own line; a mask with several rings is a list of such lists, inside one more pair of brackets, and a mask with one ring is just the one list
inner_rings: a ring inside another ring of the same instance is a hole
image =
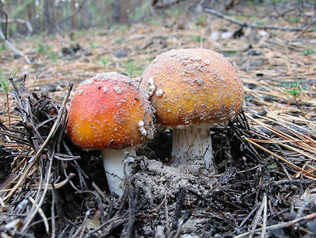
[[145, 22], [151, 17], [164, 17], [162, 12], [199, 16], [205, 8], [222, 13], [234, 8], [242, 13], [244, 6], [270, 6], [269, 10], [279, 16], [291, 13], [290, 23], [301, 22], [301, 17], [310, 18], [303, 14], [314, 8], [313, 1], [303, 0], [1, 0], [0, 19], [2, 31], [6, 31], [8, 19], [10, 35], [30, 35]]

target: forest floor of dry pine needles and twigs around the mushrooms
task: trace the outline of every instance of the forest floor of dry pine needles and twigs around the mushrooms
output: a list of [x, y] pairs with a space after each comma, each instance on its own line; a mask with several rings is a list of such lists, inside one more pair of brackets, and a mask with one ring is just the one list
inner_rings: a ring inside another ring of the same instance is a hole
[[[11, 40], [33, 64], [1, 49], [4, 74], [20, 68], [10, 122], [0, 93], [0, 237], [316, 236], [316, 32], [201, 19]], [[104, 71], [139, 80], [148, 59], [196, 47], [223, 54], [244, 84], [244, 112], [211, 130], [218, 173], [200, 159], [168, 166], [163, 130], [139, 150], [124, 195], [111, 195], [100, 152], [65, 135], [69, 84]]]

